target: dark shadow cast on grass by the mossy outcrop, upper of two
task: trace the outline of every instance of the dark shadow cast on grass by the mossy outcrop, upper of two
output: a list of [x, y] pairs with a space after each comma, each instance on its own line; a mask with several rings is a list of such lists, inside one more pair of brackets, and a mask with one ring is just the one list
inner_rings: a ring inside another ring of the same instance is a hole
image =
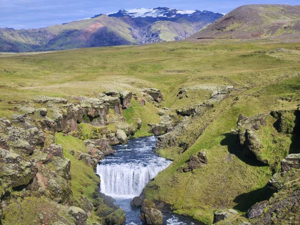
[[248, 149], [243, 147], [237, 136], [231, 134], [231, 133], [226, 133], [223, 134], [225, 137], [221, 141], [222, 146], [227, 146], [228, 152], [230, 154], [234, 154], [236, 157], [238, 157], [241, 161], [245, 162], [246, 164], [250, 166], [255, 166], [255, 167], [265, 167], [266, 164], [258, 161], [255, 157], [255, 155], [250, 152]]

